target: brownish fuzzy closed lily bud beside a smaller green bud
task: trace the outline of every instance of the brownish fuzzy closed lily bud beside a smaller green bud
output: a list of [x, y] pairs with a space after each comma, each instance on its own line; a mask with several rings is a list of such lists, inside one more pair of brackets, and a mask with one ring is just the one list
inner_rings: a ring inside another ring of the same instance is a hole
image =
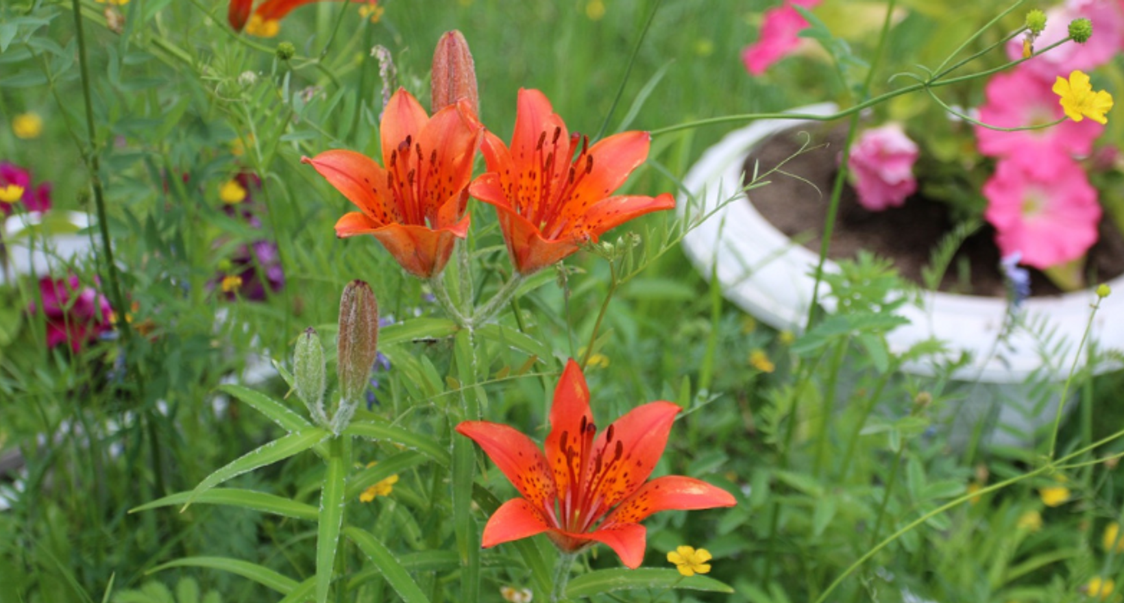
[[363, 281], [352, 281], [339, 299], [337, 371], [344, 403], [359, 401], [366, 389], [378, 344], [379, 304], [374, 292]]

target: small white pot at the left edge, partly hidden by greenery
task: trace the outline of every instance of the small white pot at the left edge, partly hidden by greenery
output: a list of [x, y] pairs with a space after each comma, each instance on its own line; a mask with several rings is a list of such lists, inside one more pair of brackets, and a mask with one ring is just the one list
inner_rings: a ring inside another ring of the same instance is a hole
[[[53, 210], [46, 214], [12, 214], [3, 222], [3, 244], [13, 275], [57, 273], [66, 263], [90, 255], [90, 236], [81, 230], [90, 226], [85, 213]], [[52, 269], [55, 268], [55, 269]], [[4, 282], [0, 271], [0, 283]]]

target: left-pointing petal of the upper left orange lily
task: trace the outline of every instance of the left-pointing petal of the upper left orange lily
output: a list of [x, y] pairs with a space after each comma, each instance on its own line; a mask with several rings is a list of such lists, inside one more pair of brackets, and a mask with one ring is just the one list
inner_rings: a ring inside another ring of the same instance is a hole
[[369, 218], [381, 223], [401, 222], [404, 216], [387, 190], [387, 172], [371, 157], [354, 150], [325, 150], [309, 158], [301, 157], [316, 168], [329, 184], [348, 201], [363, 210]]

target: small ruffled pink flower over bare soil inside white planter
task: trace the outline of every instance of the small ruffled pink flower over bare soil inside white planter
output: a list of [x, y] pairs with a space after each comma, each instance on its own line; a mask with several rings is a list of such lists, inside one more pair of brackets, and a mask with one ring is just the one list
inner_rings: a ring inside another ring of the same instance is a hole
[[913, 175], [917, 154], [917, 145], [896, 124], [859, 135], [851, 145], [847, 161], [859, 204], [870, 211], [881, 211], [905, 203], [917, 190]]

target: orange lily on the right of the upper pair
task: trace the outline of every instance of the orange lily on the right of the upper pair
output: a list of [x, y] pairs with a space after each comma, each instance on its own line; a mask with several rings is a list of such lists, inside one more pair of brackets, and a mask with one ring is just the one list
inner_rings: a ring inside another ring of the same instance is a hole
[[511, 146], [484, 134], [488, 173], [469, 192], [496, 205], [511, 262], [531, 274], [633, 218], [676, 207], [669, 193], [610, 197], [647, 158], [651, 139], [626, 131], [590, 147], [542, 92], [520, 89]]

